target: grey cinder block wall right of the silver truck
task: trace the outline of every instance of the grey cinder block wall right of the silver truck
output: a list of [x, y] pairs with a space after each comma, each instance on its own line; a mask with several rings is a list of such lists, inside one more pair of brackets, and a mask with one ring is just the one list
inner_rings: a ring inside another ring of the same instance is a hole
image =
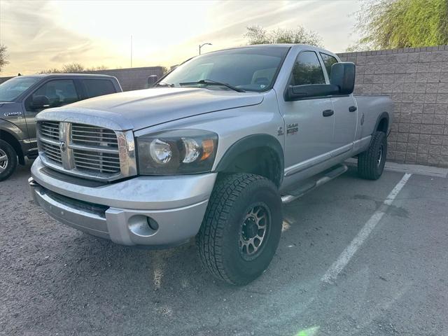
[[355, 94], [395, 103], [388, 160], [448, 167], [448, 45], [339, 57], [356, 64]]

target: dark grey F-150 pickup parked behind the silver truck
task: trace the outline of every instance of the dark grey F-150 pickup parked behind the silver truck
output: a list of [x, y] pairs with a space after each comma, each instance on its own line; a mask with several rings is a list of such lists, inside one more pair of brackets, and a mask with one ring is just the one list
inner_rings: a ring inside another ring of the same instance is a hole
[[36, 114], [50, 107], [121, 92], [117, 78], [87, 74], [18, 76], [0, 85], [0, 181], [37, 157]]

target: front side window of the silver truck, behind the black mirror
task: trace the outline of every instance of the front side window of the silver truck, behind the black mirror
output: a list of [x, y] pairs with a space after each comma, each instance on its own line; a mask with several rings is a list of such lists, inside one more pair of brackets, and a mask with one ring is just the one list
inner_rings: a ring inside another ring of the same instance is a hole
[[321, 62], [314, 51], [302, 51], [295, 59], [290, 85], [325, 84]]

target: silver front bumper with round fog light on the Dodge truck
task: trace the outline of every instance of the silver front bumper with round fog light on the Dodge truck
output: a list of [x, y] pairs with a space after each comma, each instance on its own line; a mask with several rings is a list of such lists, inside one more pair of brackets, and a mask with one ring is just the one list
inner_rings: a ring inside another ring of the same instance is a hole
[[38, 158], [29, 186], [34, 202], [66, 225], [117, 244], [169, 246], [197, 234], [215, 179], [213, 173], [140, 176], [85, 186], [46, 174]]

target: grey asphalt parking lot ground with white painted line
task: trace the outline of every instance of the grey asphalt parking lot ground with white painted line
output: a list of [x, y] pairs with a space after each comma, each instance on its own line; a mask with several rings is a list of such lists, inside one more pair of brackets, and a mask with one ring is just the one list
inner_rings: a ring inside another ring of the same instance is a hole
[[0, 335], [448, 335], [448, 179], [412, 174], [384, 204], [404, 174], [349, 169], [285, 207], [271, 266], [235, 288], [193, 241], [146, 251], [57, 223], [29, 166], [0, 183]]

